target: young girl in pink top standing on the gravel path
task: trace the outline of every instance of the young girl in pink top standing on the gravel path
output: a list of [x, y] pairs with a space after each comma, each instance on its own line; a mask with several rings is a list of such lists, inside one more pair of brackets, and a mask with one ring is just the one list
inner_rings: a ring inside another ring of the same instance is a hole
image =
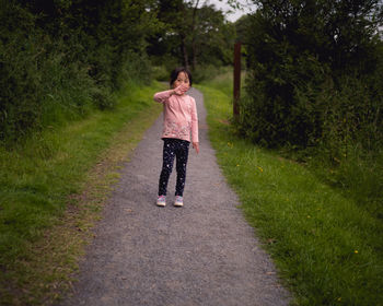
[[186, 165], [190, 144], [199, 153], [198, 117], [196, 102], [185, 93], [192, 86], [192, 73], [183, 67], [171, 74], [172, 90], [154, 94], [154, 101], [163, 104], [163, 164], [159, 183], [156, 204], [166, 205], [166, 189], [176, 158], [177, 183], [175, 187], [175, 207], [184, 204], [183, 193], [186, 179]]

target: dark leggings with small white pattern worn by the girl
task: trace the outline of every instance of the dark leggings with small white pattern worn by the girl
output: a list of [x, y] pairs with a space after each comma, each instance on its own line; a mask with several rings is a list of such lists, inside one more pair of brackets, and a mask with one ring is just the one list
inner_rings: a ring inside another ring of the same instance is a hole
[[186, 179], [186, 165], [189, 153], [189, 142], [181, 139], [164, 138], [163, 163], [159, 183], [159, 196], [166, 196], [167, 181], [176, 157], [177, 184], [175, 196], [183, 196]]

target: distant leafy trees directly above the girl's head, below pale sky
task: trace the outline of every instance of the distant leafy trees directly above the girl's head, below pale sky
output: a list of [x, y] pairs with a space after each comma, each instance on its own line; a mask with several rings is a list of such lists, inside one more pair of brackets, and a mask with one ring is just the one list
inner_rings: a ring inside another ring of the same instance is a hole
[[156, 66], [170, 61], [171, 69], [183, 64], [198, 73], [206, 64], [232, 62], [234, 25], [213, 5], [202, 1], [161, 0], [159, 19], [164, 31], [149, 40], [149, 54]]

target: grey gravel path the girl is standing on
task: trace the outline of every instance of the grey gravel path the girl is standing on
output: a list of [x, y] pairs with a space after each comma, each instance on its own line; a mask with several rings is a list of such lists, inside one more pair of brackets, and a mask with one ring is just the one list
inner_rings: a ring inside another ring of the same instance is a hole
[[[146, 132], [95, 228], [73, 296], [61, 305], [288, 305], [275, 268], [246, 224], [207, 138], [196, 98], [200, 153], [189, 152], [184, 208], [155, 197], [162, 163], [162, 116]], [[153, 102], [154, 103], [154, 102]]]

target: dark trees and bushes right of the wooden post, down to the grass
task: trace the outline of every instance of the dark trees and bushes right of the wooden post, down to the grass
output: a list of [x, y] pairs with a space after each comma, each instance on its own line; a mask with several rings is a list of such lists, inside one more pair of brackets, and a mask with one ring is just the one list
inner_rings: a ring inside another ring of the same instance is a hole
[[320, 156], [332, 184], [382, 208], [382, 1], [254, 3], [241, 22], [249, 67], [242, 133], [303, 161]]

